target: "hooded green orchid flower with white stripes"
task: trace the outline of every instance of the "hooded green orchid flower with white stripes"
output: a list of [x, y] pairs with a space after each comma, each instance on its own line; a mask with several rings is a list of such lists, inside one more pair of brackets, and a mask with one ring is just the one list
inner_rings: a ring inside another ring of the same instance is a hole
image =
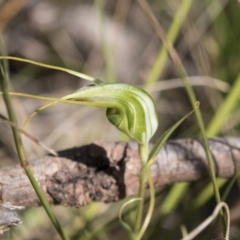
[[81, 88], [63, 99], [107, 108], [108, 120], [140, 144], [147, 144], [158, 127], [156, 107], [144, 90], [124, 83], [100, 83]]

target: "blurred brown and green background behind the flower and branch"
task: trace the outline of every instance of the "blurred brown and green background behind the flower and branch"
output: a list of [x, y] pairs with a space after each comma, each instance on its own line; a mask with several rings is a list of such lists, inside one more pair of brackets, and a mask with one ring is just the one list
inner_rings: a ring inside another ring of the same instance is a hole
[[[151, 0], [149, 4], [183, 61], [208, 126], [239, 79], [239, 2]], [[1, 45], [8, 55], [146, 89], [156, 102], [160, 121], [153, 142], [192, 110], [174, 64], [137, 1], [0, 0], [0, 30]], [[91, 84], [59, 71], [16, 61], [9, 61], [9, 69], [10, 88], [15, 92], [62, 97]], [[20, 126], [29, 114], [46, 103], [16, 97], [13, 101]], [[239, 135], [239, 101], [234, 102], [232, 109], [218, 135]], [[2, 100], [0, 112], [6, 116]], [[55, 150], [94, 141], [128, 140], [109, 124], [104, 109], [60, 103], [37, 114], [27, 131]], [[0, 165], [18, 163], [9, 126], [0, 125], [0, 136]], [[171, 138], [197, 136], [199, 129], [192, 115]], [[28, 139], [24, 143], [29, 159], [46, 154]], [[160, 189], [156, 214], [145, 239], [160, 239], [160, 235], [164, 240], [180, 239], [180, 225], [190, 230], [201, 223], [212, 212], [214, 199], [189, 212], [188, 206], [208, 182], [206, 179], [192, 183], [166, 216], [161, 215], [159, 206], [171, 186]], [[240, 207], [237, 183], [227, 201], [236, 213]], [[82, 209], [60, 206], [54, 209], [71, 239], [125, 239], [117, 217], [121, 205], [122, 202], [93, 203]], [[131, 220], [133, 214], [128, 217]], [[27, 209], [22, 219], [24, 224], [4, 234], [2, 239], [59, 239], [42, 208]], [[239, 220], [240, 211], [232, 219], [231, 239], [240, 239]], [[221, 239], [218, 222], [196, 239]]]

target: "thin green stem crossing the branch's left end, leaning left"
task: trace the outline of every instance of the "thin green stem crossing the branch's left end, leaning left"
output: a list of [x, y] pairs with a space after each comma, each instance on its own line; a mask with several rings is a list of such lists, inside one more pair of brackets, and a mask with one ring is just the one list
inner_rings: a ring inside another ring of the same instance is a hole
[[[5, 70], [5, 71], [4, 71]], [[17, 119], [12, 107], [11, 99], [8, 94], [8, 76], [7, 76], [7, 63], [4, 62], [4, 70], [1, 67], [1, 78], [0, 78], [0, 85], [2, 88], [3, 92], [3, 99], [7, 108], [8, 116], [11, 122], [17, 125]], [[23, 147], [21, 135], [17, 129], [12, 127], [12, 132], [13, 132], [13, 137], [14, 137], [14, 142], [16, 145], [17, 153], [19, 160], [21, 162], [21, 166], [25, 170], [39, 200], [41, 201], [46, 213], [48, 214], [49, 218], [51, 219], [53, 225], [55, 226], [56, 230], [58, 231], [59, 235], [63, 240], [68, 240], [69, 238], [66, 236], [64, 233], [63, 229], [61, 228], [61, 225], [59, 224], [57, 218], [55, 217], [52, 209], [50, 208], [49, 203], [47, 202], [41, 188], [38, 185], [37, 180], [35, 179], [30, 167], [28, 166], [28, 162], [26, 160], [26, 153]]]

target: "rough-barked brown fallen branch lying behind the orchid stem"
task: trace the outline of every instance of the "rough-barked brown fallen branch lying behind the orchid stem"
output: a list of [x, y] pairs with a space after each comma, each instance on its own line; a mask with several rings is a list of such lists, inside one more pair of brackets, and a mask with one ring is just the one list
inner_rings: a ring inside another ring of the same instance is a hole
[[[209, 140], [216, 175], [230, 178], [240, 165], [240, 138]], [[94, 143], [29, 161], [52, 204], [84, 206], [112, 202], [138, 191], [140, 161], [134, 143]], [[207, 160], [199, 139], [168, 141], [151, 167], [155, 186], [208, 177]], [[2, 198], [14, 205], [39, 205], [19, 165], [0, 169]]]

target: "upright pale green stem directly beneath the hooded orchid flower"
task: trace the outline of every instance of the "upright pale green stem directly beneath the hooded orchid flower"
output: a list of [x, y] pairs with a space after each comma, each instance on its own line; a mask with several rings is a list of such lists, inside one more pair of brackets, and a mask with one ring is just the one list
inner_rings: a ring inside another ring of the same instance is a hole
[[145, 168], [148, 160], [148, 144], [147, 145], [138, 145], [138, 151], [141, 159], [141, 170], [140, 170], [140, 177], [139, 177], [139, 191], [138, 191], [138, 197], [141, 198], [141, 201], [138, 201], [137, 206], [137, 216], [134, 226], [134, 233], [136, 236], [138, 235], [141, 224], [142, 224], [142, 216], [143, 216], [143, 206], [144, 206], [144, 195], [145, 195], [145, 183], [147, 182], [148, 175], [149, 175], [149, 168]]

